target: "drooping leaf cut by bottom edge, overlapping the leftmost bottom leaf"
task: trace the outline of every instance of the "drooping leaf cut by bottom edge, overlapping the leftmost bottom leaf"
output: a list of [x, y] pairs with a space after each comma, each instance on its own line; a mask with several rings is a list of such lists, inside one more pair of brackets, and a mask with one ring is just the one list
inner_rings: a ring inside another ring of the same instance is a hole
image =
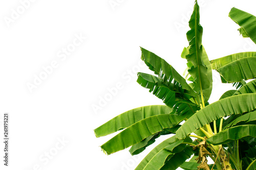
[[[188, 142], [192, 140], [187, 138]], [[167, 147], [159, 151], [144, 167], [146, 170], [160, 169], [169, 159], [171, 159], [176, 153], [184, 150], [186, 144], [182, 143], [184, 140], [174, 142]]]

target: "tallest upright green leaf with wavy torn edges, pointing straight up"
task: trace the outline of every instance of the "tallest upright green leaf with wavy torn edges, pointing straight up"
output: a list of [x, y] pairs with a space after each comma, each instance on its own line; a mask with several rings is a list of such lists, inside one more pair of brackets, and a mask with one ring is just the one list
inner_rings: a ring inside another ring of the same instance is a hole
[[[200, 25], [199, 6], [196, 1], [194, 11], [189, 20], [190, 30], [187, 32], [189, 42], [189, 54], [186, 55], [188, 72], [194, 79], [194, 90], [208, 89], [210, 87], [209, 77], [207, 77], [207, 67], [203, 61], [202, 35], [203, 27]], [[207, 60], [205, 60], [208, 62]], [[209, 68], [210, 69], [210, 68]]]

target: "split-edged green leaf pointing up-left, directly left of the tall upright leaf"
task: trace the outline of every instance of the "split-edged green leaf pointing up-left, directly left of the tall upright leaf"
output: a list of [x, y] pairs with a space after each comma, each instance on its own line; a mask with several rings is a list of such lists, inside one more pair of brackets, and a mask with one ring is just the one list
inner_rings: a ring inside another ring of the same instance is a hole
[[141, 59], [162, 79], [164, 83], [169, 85], [173, 80], [176, 80], [182, 89], [188, 90], [187, 93], [193, 96], [197, 95], [196, 92], [187, 84], [186, 80], [174, 69], [174, 67], [154, 53], [147, 51], [142, 47], [140, 48], [142, 52]]

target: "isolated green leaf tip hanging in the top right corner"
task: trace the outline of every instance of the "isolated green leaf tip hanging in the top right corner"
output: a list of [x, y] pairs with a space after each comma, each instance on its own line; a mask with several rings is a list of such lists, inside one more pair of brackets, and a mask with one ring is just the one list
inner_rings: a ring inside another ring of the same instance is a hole
[[228, 15], [234, 22], [236, 22], [241, 28], [239, 29], [240, 34], [243, 37], [250, 37], [250, 39], [256, 43], [256, 17], [239, 10], [232, 8]]

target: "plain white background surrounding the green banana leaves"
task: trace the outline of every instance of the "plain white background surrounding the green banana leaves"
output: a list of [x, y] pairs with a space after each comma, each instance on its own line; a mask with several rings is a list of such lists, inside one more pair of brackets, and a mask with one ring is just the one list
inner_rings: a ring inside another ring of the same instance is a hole
[[[21, 2], [25, 0], [0, 2], [2, 139], [3, 114], [10, 114], [9, 166], [3, 165], [1, 142], [0, 169], [134, 169], [166, 137], [141, 156], [132, 157], [129, 149], [106, 156], [99, 145], [113, 135], [96, 138], [93, 129], [126, 110], [163, 104], [136, 83], [136, 72], [151, 73], [138, 66], [139, 46], [182, 74], [186, 60], [180, 54], [188, 45], [187, 16], [194, 1], [37, 0], [24, 11]], [[110, 2], [118, 5], [112, 7]], [[228, 17], [232, 7], [256, 15], [255, 5], [254, 1], [201, 1], [203, 44], [210, 60], [255, 51], [252, 41], [239, 36], [239, 26]], [[17, 10], [20, 14], [13, 19]], [[66, 59], [59, 58], [75, 35], [87, 38]], [[28, 83], [33, 84], [34, 76], [43, 74], [42, 67], [52, 61], [58, 63], [57, 68], [31, 92]], [[119, 82], [122, 89], [101, 110], [93, 110], [108, 95], [108, 88]], [[214, 73], [210, 103], [230, 88], [220, 84]], [[67, 141], [63, 147], [58, 143], [62, 138]], [[54, 154], [51, 159], [45, 156], [47, 152]]]

